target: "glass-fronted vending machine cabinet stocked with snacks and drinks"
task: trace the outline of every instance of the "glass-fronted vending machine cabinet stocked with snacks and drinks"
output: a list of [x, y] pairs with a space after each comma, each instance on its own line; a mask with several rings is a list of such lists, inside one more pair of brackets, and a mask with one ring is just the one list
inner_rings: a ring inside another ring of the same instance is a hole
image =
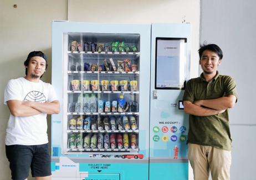
[[149, 179], [150, 24], [52, 23], [52, 179]]

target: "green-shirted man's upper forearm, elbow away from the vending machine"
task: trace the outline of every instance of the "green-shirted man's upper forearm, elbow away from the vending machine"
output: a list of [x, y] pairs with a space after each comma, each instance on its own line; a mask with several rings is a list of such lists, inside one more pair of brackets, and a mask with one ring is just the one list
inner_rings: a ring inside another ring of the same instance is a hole
[[237, 97], [235, 97], [234, 95], [230, 95], [228, 97], [222, 97], [211, 100], [196, 100], [193, 102], [193, 104], [197, 106], [204, 106], [211, 109], [223, 110], [233, 108], [236, 100]]

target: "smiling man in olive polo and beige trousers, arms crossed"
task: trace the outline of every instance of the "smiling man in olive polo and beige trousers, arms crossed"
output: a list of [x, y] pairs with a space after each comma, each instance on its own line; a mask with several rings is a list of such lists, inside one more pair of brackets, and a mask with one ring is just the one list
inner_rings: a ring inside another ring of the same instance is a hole
[[215, 44], [200, 46], [199, 65], [203, 73], [187, 82], [183, 96], [186, 114], [190, 114], [188, 129], [188, 159], [194, 179], [229, 180], [232, 136], [229, 129], [229, 109], [238, 96], [231, 76], [219, 75], [223, 53]]

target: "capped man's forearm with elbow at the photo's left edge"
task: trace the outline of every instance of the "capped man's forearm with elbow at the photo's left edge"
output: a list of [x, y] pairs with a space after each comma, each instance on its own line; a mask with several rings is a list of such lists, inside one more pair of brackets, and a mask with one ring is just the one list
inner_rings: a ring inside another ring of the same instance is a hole
[[31, 117], [42, 113], [37, 109], [23, 105], [20, 100], [8, 100], [7, 105], [14, 117]]

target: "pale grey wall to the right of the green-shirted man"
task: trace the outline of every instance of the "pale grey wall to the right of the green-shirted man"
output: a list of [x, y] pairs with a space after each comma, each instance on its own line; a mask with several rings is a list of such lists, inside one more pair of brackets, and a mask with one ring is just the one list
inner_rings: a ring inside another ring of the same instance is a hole
[[233, 76], [237, 83], [238, 102], [231, 109], [229, 119], [233, 137], [231, 179], [255, 179], [256, 1], [201, 2], [201, 43], [207, 40], [221, 47], [223, 59], [218, 71]]

